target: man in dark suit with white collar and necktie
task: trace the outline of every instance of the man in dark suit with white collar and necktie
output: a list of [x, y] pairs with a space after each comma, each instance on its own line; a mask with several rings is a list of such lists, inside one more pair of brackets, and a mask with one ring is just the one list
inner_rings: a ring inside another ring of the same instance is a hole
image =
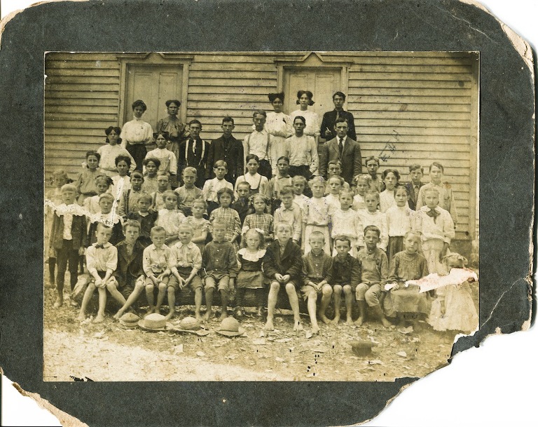
[[342, 177], [347, 184], [352, 184], [353, 178], [362, 172], [361, 147], [357, 141], [347, 136], [347, 121], [340, 117], [334, 126], [336, 137], [322, 146], [319, 159], [319, 175], [326, 177], [330, 161], [339, 160], [342, 163]]

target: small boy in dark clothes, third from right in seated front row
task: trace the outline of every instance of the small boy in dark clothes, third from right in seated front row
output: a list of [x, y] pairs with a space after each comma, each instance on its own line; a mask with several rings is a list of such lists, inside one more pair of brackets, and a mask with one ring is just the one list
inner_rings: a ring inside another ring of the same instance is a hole
[[329, 281], [333, 285], [334, 293], [333, 323], [338, 325], [340, 321], [340, 301], [342, 292], [344, 292], [345, 323], [352, 325], [353, 292], [361, 281], [361, 266], [357, 259], [350, 255], [351, 240], [349, 237], [336, 236], [334, 238], [334, 248], [336, 249], [336, 256], [333, 257], [333, 268], [329, 275]]

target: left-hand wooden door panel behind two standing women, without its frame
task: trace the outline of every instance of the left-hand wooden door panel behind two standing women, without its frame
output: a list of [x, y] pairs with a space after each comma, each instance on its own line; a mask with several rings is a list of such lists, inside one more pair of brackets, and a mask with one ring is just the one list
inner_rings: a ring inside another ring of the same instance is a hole
[[167, 116], [165, 102], [181, 100], [182, 79], [183, 69], [178, 65], [129, 65], [124, 123], [132, 120], [132, 102], [143, 100], [148, 106], [144, 121], [155, 129], [158, 120]]

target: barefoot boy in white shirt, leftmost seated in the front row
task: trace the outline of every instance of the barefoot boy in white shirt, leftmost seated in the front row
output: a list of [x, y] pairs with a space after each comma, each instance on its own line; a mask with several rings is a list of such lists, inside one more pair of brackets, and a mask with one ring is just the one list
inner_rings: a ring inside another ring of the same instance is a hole
[[99, 292], [99, 311], [94, 323], [104, 320], [104, 308], [106, 306], [106, 287], [109, 283], [115, 283], [112, 273], [118, 266], [118, 250], [109, 243], [112, 236], [112, 229], [101, 222], [97, 224], [97, 242], [93, 243], [86, 250], [86, 267], [90, 273], [91, 279], [88, 288], [84, 292], [82, 299], [81, 311], [78, 313], [78, 320], [85, 319], [86, 307], [92, 298], [93, 292], [97, 289]]

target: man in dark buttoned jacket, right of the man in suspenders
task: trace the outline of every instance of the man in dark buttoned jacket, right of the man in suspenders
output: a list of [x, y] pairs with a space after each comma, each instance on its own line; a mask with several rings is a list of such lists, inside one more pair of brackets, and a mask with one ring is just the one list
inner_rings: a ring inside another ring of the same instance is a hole
[[213, 166], [216, 161], [223, 160], [228, 165], [228, 173], [224, 175], [224, 179], [235, 185], [235, 179], [244, 174], [243, 144], [232, 135], [233, 128], [235, 128], [233, 118], [223, 118], [221, 128], [222, 136], [213, 140], [209, 146], [206, 177], [207, 179], [214, 178]]

